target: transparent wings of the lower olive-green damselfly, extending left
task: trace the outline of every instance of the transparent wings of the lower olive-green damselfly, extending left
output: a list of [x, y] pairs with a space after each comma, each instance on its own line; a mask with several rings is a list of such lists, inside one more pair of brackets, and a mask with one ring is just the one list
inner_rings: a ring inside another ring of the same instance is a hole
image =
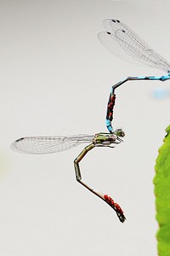
[[92, 142], [93, 138], [94, 135], [86, 134], [68, 137], [21, 137], [12, 143], [11, 148], [20, 153], [50, 154]]

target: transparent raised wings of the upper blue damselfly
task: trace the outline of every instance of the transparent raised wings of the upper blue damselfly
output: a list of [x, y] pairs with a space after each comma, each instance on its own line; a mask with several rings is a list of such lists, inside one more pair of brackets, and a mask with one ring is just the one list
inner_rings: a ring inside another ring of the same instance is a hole
[[136, 65], [170, 72], [170, 64], [122, 21], [107, 19], [104, 26], [106, 32], [98, 34], [99, 41], [114, 55]]

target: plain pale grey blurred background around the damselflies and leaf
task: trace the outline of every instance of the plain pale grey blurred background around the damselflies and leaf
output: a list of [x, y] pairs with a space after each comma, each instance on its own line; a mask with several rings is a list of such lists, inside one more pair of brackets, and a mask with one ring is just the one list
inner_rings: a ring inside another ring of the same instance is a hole
[[152, 183], [169, 125], [169, 81], [128, 82], [116, 90], [116, 148], [95, 148], [82, 178], [111, 195], [127, 221], [76, 182], [73, 160], [18, 154], [27, 136], [107, 132], [111, 85], [127, 76], [163, 75], [111, 55], [98, 41], [106, 18], [122, 20], [170, 60], [168, 1], [0, 1], [0, 253], [3, 256], [156, 255]]

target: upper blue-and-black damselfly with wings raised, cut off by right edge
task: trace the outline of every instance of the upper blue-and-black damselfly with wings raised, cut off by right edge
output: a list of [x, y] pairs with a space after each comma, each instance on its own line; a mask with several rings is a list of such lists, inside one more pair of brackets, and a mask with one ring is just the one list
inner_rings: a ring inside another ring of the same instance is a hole
[[163, 76], [146, 76], [146, 77], [127, 77], [122, 81], [114, 84], [111, 88], [110, 99], [107, 106], [106, 126], [112, 133], [113, 128], [111, 121], [113, 119], [113, 108], [115, 105], [115, 90], [127, 81], [134, 80], [159, 80], [166, 81], [170, 79], [170, 64], [150, 48], [143, 39], [139, 38], [128, 26], [120, 20], [104, 20], [105, 32], [99, 32], [98, 38], [101, 44], [109, 49], [114, 55], [133, 62], [140, 66], [156, 67], [165, 71], [167, 75]]

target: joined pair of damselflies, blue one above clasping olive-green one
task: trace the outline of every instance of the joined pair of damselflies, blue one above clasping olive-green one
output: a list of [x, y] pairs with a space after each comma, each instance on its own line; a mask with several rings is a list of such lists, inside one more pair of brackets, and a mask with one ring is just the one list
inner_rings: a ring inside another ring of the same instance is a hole
[[167, 75], [156, 77], [128, 77], [114, 84], [111, 88], [111, 94], [107, 106], [106, 127], [110, 133], [98, 133], [92, 135], [76, 135], [69, 137], [21, 137], [12, 144], [15, 151], [26, 154], [50, 154], [64, 151], [76, 147], [82, 143], [90, 143], [85, 147], [81, 154], [74, 160], [76, 178], [85, 188], [90, 190], [94, 195], [99, 196], [103, 201], [110, 205], [123, 223], [125, 216], [122, 208], [108, 195], [103, 195], [82, 182], [82, 175], [79, 162], [83, 157], [95, 147], [111, 147], [111, 144], [122, 143], [124, 132], [122, 129], [113, 130], [111, 122], [113, 119], [113, 108], [115, 105], [115, 90], [120, 85], [130, 80], [160, 80], [170, 79], [170, 64], [161, 55], [158, 55], [144, 41], [139, 38], [128, 26], [124, 25], [120, 20], [107, 19], [104, 21], [105, 32], [99, 33], [99, 41], [115, 55], [125, 59], [126, 61], [136, 62], [136, 64], [147, 67], [156, 67], [167, 72]]

